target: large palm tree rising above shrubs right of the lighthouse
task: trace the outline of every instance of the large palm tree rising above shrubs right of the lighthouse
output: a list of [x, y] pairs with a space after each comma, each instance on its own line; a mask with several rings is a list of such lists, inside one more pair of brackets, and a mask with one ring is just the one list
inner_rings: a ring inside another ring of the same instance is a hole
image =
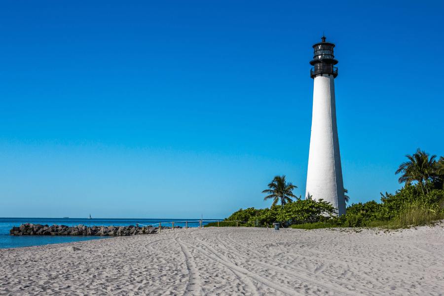
[[433, 177], [436, 172], [436, 155], [430, 156], [424, 150], [421, 151], [419, 148], [412, 155], [406, 155], [408, 161], [403, 162], [396, 171], [395, 175], [402, 173], [401, 177], [398, 179], [399, 183], [406, 182], [410, 184], [412, 181], [418, 181], [421, 184], [422, 194], [424, 194], [424, 181], [426, 185], [427, 194], [429, 194], [429, 186], [427, 185], [427, 180]]

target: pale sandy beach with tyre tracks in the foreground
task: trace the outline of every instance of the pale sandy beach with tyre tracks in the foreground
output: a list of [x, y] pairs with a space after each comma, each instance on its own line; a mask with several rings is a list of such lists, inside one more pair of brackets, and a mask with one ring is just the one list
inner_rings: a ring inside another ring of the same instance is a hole
[[188, 228], [0, 249], [0, 295], [443, 295], [443, 225]]

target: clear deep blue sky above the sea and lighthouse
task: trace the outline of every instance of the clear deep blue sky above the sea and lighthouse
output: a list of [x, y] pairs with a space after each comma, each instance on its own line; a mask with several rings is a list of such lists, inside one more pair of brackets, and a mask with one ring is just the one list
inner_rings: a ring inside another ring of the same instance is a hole
[[336, 44], [351, 202], [444, 155], [443, 1], [2, 1], [0, 217], [225, 218], [304, 195], [309, 61]]

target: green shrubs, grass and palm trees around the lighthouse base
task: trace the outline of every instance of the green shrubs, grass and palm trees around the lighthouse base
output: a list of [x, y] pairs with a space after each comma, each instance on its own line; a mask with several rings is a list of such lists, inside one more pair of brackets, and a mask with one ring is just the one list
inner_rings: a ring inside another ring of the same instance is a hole
[[[262, 191], [270, 194], [265, 200], [273, 200], [271, 208], [240, 209], [225, 221], [237, 220], [239, 226], [259, 227], [280, 222], [283, 227], [315, 229], [359, 226], [399, 228], [444, 219], [444, 157], [436, 161], [436, 155], [429, 156], [420, 149], [406, 155], [408, 161], [402, 163], [395, 173], [401, 174], [398, 181], [405, 183], [400, 190], [395, 194], [381, 193], [380, 203], [372, 200], [352, 204], [347, 207], [347, 214], [341, 217], [335, 217], [336, 209], [322, 199], [297, 198], [292, 193], [296, 186], [286, 182], [285, 176], [276, 176], [268, 184], [269, 189]], [[291, 197], [296, 197], [296, 200]], [[235, 225], [236, 222], [220, 223], [220, 226]], [[217, 226], [217, 222], [207, 226]]]

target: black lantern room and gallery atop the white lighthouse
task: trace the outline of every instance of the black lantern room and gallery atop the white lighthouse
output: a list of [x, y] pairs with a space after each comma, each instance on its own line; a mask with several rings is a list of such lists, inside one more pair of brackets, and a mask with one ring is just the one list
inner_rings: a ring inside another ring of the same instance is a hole
[[314, 79], [316, 75], [329, 74], [333, 75], [333, 78], [337, 76], [337, 68], [333, 65], [337, 64], [337, 60], [334, 59], [333, 47], [334, 44], [325, 41], [325, 37], [322, 37], [322, 42], [313, 45], [314, 57], [310, 65], [313, 66], [310, 71], [310, 77]]

